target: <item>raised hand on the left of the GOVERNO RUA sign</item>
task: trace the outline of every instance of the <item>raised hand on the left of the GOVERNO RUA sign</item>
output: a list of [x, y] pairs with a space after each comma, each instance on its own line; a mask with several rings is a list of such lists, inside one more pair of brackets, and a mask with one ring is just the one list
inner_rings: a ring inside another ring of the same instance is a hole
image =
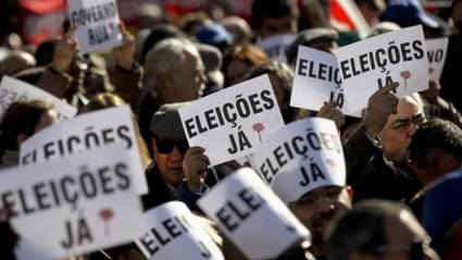
[[53, 60], [51, 61], [51, 67], [60, 73], [67, 71], [74, 57], [80, 50], [77, 40], [74, 38], [76, 29], [76, 27], [71, 26], [67, 33], [58, 39], [53, 52]]

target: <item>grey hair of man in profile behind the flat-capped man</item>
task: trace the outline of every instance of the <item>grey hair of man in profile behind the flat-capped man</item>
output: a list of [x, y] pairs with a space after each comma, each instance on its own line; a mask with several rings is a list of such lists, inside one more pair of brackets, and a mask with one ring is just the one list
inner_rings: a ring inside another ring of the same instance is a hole
[[152, 47], [145, 60], [143, 95], [157, 89], [157, 86], [161, 84], [159, 78], [162, 74], [167, 74], [176, 83], [178, 78], [175, 74], [185, 64], [186, 52], [199, 57], [193, 44], [183, 38], [164, 39]]

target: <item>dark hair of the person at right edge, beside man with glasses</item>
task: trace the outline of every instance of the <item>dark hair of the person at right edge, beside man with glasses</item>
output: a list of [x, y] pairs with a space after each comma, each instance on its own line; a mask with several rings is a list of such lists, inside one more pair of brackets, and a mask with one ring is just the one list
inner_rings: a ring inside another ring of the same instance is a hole
[[462, 161], [462, 129], [450, 121], [429, 120], [412, 136], [410, 159], [419, 162], [432, 148], [440, 148]]

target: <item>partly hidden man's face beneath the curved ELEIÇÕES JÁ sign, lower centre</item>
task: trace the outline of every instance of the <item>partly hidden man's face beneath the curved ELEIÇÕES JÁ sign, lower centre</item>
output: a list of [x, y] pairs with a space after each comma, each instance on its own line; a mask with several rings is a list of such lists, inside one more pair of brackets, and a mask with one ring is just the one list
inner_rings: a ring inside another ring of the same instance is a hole
[[333, 218], [342, 210], [351, 209], [350, 187], [319, 187], [289, 205], [292, 213], [312, 234], [313, 244], [322, 244], [323, 235]]

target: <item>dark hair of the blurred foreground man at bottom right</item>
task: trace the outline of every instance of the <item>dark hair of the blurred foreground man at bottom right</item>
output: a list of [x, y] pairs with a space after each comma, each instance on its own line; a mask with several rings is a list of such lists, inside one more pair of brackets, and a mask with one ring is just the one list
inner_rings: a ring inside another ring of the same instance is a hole
[[386, 200], [366, 200], [342, 214], [327, 233], [327, 252], [332, 260], [347, 260], [358, 251], [373, 253], [387, 243], [386, 220], [403, 210], [401, 205]]

